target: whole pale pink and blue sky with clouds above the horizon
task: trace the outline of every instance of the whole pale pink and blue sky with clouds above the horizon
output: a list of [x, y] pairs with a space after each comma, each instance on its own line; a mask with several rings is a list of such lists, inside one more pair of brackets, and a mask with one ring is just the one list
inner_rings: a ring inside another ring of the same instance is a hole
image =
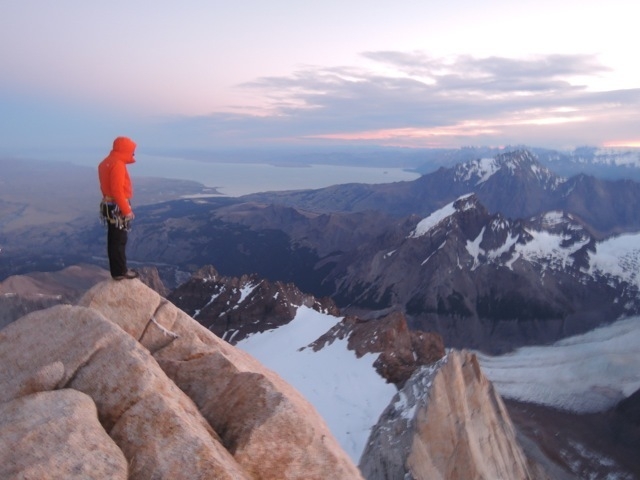
[[0, 154], [640, 146], [636, 32], [633, 0], [3, 0]]

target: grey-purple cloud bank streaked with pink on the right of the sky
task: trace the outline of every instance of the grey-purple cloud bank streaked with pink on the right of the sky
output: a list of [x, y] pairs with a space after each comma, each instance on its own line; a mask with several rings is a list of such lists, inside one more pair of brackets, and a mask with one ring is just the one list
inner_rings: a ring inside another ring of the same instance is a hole
[[[428, 146], [606, 141], [597, 129], [638, 123], [640, 89], [593, 91], [609, 69], [593, 55], [433, 58], [366, 52], [370, 68], [307, 66], [241, 86], [261, 115], [189, 119], [218, 142], [348, 141]], [[582, 135], [579, 132], [582, 131]], [[516, 138], [517, 137], [517, 138]]]

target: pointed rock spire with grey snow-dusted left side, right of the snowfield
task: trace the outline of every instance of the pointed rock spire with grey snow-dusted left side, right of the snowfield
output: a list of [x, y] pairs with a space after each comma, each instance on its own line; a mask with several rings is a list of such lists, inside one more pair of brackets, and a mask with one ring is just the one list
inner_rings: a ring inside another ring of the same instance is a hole
[[409, 379], [373, 428], [360, 468], [368, 480], [544, 478], [528, 464], [475, 355], [464, 351]]

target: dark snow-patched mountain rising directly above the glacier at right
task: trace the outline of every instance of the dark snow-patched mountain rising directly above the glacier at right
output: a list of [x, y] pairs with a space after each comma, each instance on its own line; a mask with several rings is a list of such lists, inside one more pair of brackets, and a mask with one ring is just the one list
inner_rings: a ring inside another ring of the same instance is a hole
[[404, 308], [413, 326], [440, 333], [447, 346], [498, 352], [547, 343], [640, 312], [638, 240], [597, 240], [560, 211], [492, 215], [468, 194], [416, 219], [403, 237], [360, 250], [335, 298]]

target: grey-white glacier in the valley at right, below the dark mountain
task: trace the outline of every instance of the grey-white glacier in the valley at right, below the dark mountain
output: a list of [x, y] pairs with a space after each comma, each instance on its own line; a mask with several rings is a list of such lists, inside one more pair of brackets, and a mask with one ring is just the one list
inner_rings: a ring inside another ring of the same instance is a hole
[[594, 413], [640, 388], [638, 345], [640, 317], [629, 317], [547, 346], [476, 355], [504, 398]]

